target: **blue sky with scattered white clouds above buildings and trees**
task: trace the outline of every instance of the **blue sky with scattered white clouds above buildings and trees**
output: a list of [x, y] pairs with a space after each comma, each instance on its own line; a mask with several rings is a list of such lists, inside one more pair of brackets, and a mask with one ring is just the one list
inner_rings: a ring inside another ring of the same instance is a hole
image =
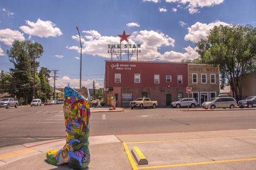
[[82, 84], [103, 87], [107, 44], [119, 44], [124, 30], [131, 44], [142, 44], [139, 60], [179, 62], [198, 57], [196, 42], [214, 25], [255, 27], [255, 6], [254, 0], [0, 1], [0, 70], [13, 67], [6, 55], [12, 42], [30, 39], [44, 47], [41, 66], [59, 70], [57, 87], [78, 87], [78, 26]]

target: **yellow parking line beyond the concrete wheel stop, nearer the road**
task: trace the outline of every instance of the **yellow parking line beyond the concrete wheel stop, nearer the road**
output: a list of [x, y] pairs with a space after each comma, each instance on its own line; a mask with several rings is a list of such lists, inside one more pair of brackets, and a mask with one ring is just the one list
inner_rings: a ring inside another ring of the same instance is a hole
[[256, 136], [237, 136], [237, 137], [223, 137], [223, 138], [199, 138], [199, 139], [181, 139], [181, 140], [156, 140], [156, 141], [134, 141], [126, 142], [126, 144], [150, 144], [150, 143], [164, 143], [175, 141], [200, 141], [200, 140], [214, 140], [214, 139], [235, 139], [235, 138], [255, 138]]

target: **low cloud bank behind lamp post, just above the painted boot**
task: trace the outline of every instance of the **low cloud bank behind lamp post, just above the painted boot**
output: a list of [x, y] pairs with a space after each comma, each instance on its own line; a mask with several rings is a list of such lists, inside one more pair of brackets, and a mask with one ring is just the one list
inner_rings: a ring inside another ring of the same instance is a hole
[[[51, 77], [50, 79], [50, 84], [53, 86], [53, 78]], [[103, 87], [104, 79], [88, 79], [88, 80], [82, 80], [82, 86], [92, 88], [93, 85], [93, 80], [95, 81], [95, 88], [100, 88]], [[65, 87], [69, 86], [70, 87], [75, 87], [79, 88], [80, 86], [80, 79], [71, 79], [68, 75], [63, 76], [62, 78], [58, 78], [56, 80], [56, 87]]]

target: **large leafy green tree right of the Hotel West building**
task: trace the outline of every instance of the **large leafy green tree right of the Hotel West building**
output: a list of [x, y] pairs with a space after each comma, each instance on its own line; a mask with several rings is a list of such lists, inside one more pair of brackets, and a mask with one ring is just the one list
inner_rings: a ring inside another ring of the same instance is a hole
[[242, 97], [242, 77], [255, 70], [256, 29], [251, 25], [215, 26], [197, 43], [201, 61], [219, 65], [221, 87], [226, 80], [237, 100]]

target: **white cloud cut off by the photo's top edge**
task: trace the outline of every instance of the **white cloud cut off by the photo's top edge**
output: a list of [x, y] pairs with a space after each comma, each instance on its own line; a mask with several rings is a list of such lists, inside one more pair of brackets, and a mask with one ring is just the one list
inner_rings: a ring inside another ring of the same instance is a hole
[[169, 3], [179, 3], [180, 5], [185, 5], [186, 9], [193, 14], [198, 13], [200, 10], [198, 8], [210, 7], [214, 5], [219, 5], [224, 2], [224, 0], [165, 0]]

